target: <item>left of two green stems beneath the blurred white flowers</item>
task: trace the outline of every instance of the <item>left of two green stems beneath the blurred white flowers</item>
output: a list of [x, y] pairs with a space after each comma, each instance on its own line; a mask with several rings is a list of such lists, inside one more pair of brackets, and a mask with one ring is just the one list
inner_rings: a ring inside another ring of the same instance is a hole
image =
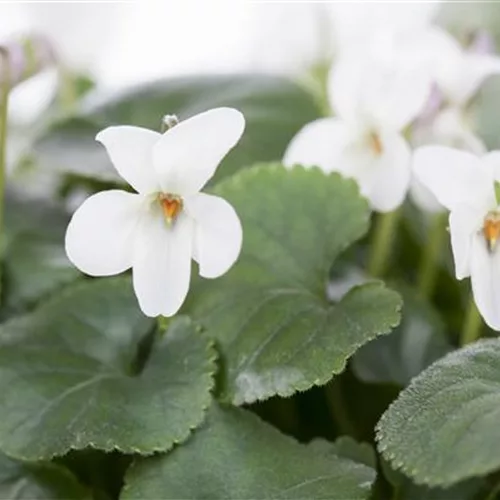
[[375, 278], [384, 274], [400, 217], [401, 209], [378, 216], [368, 263], [368, 272]]

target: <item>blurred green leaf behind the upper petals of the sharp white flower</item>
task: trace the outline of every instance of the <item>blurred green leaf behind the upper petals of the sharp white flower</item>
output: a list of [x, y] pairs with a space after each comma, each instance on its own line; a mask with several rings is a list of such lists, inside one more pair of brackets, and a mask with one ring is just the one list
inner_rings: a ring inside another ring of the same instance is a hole
[[34, 154], [43, 168], [123, 182], [95, 141], [99, 130], [116, 124], [159, 130], [165, 114], [186, 119], [210, 108], [230, 106], [245, 115], [246, 128], [218, 168], [217, 182], [254, 162], [281, 159], [301, 127], [320, 116], [305, 90], [269, 75], [176, 78], [93, 101], [80, 116], [58, 123], [39, 139]]

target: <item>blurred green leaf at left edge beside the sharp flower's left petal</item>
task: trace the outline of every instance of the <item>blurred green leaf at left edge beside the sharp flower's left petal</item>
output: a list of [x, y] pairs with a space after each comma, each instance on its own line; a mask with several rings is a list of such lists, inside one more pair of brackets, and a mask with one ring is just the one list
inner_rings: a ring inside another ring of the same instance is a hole
[[7, 194], [3, 305], [19, 309], [80, 275], [64, 251], [68, 220], [46, 200]]

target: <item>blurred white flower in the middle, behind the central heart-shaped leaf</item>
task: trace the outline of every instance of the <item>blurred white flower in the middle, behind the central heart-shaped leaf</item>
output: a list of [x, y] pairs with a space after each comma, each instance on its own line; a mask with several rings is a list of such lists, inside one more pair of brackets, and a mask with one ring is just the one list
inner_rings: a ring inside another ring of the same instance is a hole
[[285, 152], [285, 165], [341, 172], [357, 180], [374, 210], [394, 210], [410, 182], [410, 148], [402, 130], [420, 113], [430, 88], [429, 75], [410, 60], [340, 60], [328, 86], [337, 117], [300, 130]]

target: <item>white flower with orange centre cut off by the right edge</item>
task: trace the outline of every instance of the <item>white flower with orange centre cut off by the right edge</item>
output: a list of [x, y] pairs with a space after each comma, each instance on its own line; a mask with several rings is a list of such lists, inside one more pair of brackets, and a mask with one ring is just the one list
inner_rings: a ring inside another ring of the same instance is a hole
[[417, 178], [450, 210], [455, 274], [471, 277], [486, 323], [500, 330], [500, 151], [482, 157], [445, 146], [415, 151]]

